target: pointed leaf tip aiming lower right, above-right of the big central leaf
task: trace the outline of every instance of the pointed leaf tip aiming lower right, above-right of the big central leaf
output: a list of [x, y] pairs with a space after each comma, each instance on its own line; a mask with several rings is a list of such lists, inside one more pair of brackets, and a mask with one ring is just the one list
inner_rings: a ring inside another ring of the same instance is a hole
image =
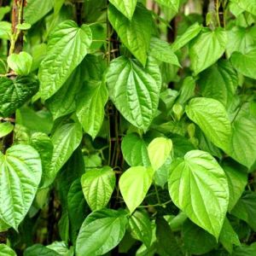
[[181, 67], [177, 55], [171, 49], [170, 44], [159, 38], [151, 38], [149, 54], [158, 61], [163, 61]]

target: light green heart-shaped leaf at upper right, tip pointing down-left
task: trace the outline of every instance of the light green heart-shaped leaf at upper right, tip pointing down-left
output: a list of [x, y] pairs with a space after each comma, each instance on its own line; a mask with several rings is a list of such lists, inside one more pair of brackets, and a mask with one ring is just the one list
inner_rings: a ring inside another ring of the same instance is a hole
[[203, 29], [189, 44], [191, 69], [194, 73], [201, 73], [218, 61], [224, 54], [226, 44], [227, 35], [223, 28], [219, 27], [214, 31]]

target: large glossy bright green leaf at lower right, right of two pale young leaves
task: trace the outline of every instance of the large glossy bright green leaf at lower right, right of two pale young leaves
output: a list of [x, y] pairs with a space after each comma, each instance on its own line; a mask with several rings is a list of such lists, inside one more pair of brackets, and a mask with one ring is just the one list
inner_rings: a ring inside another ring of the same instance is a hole
[[192, 150], [173, 161], [168, 187], [174, 204], [218, 239], [230, 193], [224, 170], [212, 155]]

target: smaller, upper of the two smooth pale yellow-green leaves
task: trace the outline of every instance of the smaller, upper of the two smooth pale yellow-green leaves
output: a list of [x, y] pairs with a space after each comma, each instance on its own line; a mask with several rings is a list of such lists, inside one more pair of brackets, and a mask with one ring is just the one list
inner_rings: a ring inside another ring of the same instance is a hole
[[165, 137], [156, 137], [148, 145], [148, 157], [154, 171], [162, 166], [172, 151], [172, 140]]

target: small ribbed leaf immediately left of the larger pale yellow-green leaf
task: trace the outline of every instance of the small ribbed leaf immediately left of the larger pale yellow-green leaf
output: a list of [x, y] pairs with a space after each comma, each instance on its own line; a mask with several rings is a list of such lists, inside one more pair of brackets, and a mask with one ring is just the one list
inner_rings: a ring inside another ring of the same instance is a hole
[[115, 186], [115, 173], [109, 166], [88, 170], [81, 177], [85, 200], [92, 211], [106, 207]]

